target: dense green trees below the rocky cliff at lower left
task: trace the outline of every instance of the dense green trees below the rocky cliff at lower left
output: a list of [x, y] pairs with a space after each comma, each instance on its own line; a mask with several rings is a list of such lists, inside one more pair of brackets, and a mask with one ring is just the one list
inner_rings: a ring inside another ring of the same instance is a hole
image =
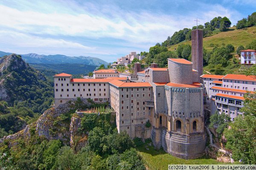
[[[53, 125], [63, 122], [61, 128], [69, 130], [71, 117], [78, 117], [75, 113], [77, 109], [95, 106], [97, 105], [93, 102], [91, 105], [86, 105], [78, 98], [70, 110], [55, 118]], [[49, 116], [47, 115], [47, 117]], [[127, 133], [118, 133], [113, 120], [115, 120], [115, 114], [112, 113], [84, 114], [75, 142], [84, 140], [87, 141], [87, 144], [79, 150], [64, 144], [60, 139], [47, 140], [46, 136], [39, 136], [36, 125], [32, 124], [29, 127], [29, 136], [20, 136], [13, 140], [6, 139], [0, 143], [0, 168], [17, 168], [20, 170], [145, 170], [141, 158], [137, 155], [137, 150], [134, 149], [136, 142], [133, 142]], [[51, 125], [48, 126], [53, 133], [58, 130]], [[88, 134], [81, 138], [87, 132]], [[76, 146], [77, 144], [73, 145], [73, 147]]]

